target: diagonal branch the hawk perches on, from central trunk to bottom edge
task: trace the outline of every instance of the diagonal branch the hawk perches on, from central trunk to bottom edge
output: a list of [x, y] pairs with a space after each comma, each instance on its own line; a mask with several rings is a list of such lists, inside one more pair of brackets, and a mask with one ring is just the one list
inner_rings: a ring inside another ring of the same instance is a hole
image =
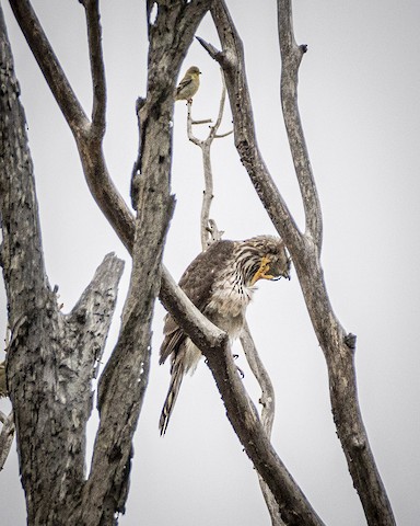
[[[256, 470], [276, 498], [285, 524], [323, 525], [276, 454], [233, 362], [226, 335], [201, 315], [173, 281], [161, 289], [164, 307], [201, 350], [226, 408], [228, 418]], [[210, 333], [208, 331], [211, 331]], [[214, 331], [214, 332], [213, 332]], [[210, 338], [208, 338], [210, 336]]]

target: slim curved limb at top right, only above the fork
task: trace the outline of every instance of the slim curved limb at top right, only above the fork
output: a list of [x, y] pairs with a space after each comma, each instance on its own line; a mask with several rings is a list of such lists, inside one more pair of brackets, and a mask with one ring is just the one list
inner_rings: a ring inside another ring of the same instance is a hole
[[298, 46], [293, 34], [291, 0], [278, 1], [279, 42], [281, 55], [281, 104], [290, 150], [293, 158], [305, 210], [306, 235], [314, 239], [320, 252], [323, 217], [312, 173], [305, 137], [298, 108], [298, 72], [306, 46]]

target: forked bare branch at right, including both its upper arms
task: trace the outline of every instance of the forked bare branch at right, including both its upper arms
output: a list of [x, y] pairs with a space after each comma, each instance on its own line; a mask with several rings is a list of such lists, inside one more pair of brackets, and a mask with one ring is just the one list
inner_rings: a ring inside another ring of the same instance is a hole
[[[302, 236], [295, 228], [285, 204], [277, 188], [273, 187], [272, 180], [260, 159], [245, 80], [243, 46], [224, 2], [217, 0], [211, 12], [222, 42], [223, 52], [217, 52], [213, 46], [206, 43], [203, 45], [210, 55], [221, 64], [225, 72], [228, 92], [234, 115], [236, 148], [273, 225], [292, 254], [311, 320], [327, 361], [334, 418], [350, 473], [369, 523], [393, 525], [392, 508], [369, 446], [358, 403], [353, 363], [354, 339], [346, 334], [334, 315], [319, 263], [320, 211], [312, 173], [308, 171], [310, 162], [303, 135], [299, 137], [299, 148], [293, 148], [292, 152], [294, 156], [304, 157], [303, 159], [294, 159], [294, 162], [300, 170], [301, 191], [305, 201], [305, 236]], [[291, 31], [289, 1], [280, 4], [279, 13], [287, 20], [282, 23], [282, 27]], [[285, 38], [282, 48], [290, 49], [292, 43], [294, 43], [293, 35], [280, 33], [280, 36]], [[289, 61], [294, 61], [292, 64], [294, 73], [292, 72], [289, 76], [283, 73], [282, 87], [289, 90], [283, 96], [285, 112], [289, 112], [291, 103], [296, 104], [296, 87], [291, 87], [290, 82], [292, 80], [296, 82], [298, 80], [296, 67], [303, 50], [303, 48], [294, 49], [292, 55], [289, 56]], [[285, 61], [283, 66], [289, 67], [289, 61]], [[293, 108], [291, 116], [285, 116], [285, 119], [290, 122], [293, 134], [302, 133], [296, 108]], [[312, 190], [314, 192], [308, 196]]]

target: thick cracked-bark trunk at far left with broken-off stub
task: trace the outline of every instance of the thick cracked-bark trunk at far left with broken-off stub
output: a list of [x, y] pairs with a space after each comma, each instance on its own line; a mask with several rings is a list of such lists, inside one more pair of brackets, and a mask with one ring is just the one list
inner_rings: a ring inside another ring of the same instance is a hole
[[28, 524], [69, 524], [67, 513], [85, 477], [91, 379], [124, 264], [106, 256], [70, 315], [60, 311], [44, 266], [25, 117], [2, 15], [0, 26], [1, 262], [11, 327], [8, 386]]

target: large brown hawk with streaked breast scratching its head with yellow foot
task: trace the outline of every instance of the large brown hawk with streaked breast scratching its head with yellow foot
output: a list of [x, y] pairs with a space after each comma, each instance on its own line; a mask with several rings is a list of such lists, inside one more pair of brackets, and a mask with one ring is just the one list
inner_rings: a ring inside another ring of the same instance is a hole
[[[245, 241], [221, 240], [199, 254], [184, 272], [179, 286], [192, 304], [231, 340], [245, 321], [258, 279], [290, 279], [290, 259], [280, 238], [257, 236]], [[171, 385], [159, 428], [165, 434], [184, 376], [194, 373], [201, 352], [166, 315], [160, 364], [171, 356]]]

